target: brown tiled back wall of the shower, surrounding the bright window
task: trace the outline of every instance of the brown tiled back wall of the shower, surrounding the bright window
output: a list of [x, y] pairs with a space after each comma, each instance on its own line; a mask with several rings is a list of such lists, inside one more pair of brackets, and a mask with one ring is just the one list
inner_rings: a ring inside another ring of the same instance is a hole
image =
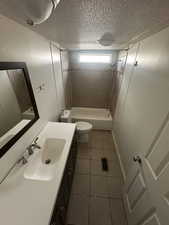
[[110, 107], [114, 79], [112, 65], [79, 63], [79, 54], [82, 52], [87, 54], [110, 53], [112, 55], [112, 65], [117, 62], [118, 52], [116, 51], [70, 51], [69, 78], [72, 85], [72, 106]]

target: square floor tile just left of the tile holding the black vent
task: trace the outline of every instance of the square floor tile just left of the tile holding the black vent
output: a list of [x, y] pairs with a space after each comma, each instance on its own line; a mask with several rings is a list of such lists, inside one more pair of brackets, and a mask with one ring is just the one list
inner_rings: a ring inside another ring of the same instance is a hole
[[77, 159], [75, 172], [78, 174], [89, 174], [90, 173], [90, 160]]

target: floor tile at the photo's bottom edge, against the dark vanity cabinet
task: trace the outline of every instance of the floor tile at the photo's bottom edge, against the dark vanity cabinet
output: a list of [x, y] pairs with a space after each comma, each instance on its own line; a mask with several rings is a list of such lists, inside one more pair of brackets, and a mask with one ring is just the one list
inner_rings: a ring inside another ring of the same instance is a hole
[[67, 224], [88, 225], [88, 197], [72, 195], [67, 213]]

